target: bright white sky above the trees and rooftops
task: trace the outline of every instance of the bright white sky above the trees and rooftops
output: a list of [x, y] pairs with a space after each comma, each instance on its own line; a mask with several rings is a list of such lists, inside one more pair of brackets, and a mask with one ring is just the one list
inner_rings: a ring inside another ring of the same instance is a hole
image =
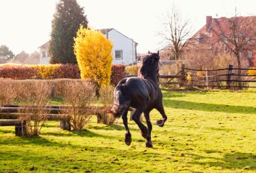
[[[158, 50], [162, 38], [161, 17], [175, 0], [77, 0], [90, 27], [110, 28], [133, 38], [138, 53]], [[59, 0], [0, 0], [0, 45], [18, 54], [28, 53], [49, 41], [51, 21]], [[230, 16], [237, 7], [241, 15], [256, 15], [256, 0], [179, 0], [175, 5], [193, 21], [194, 31], [205, 25], [205, 16]]]

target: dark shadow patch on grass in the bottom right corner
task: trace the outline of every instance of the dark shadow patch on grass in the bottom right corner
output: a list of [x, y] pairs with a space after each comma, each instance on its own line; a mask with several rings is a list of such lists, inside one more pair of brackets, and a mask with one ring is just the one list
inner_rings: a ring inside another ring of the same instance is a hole
[[[211, 153], [220, 153], [216, 150], [205, 150], [207, 154]], [[225, 154], [223, 158], [215, 158], [215, 157], [205, 157], [199, 156], [197, 154], [188, 154], [195, 158], [195, 161], [191, 162], [191, 164], [199, 164], [203, 166], [211, 166], [211, 167], [221, 167], [222, 169], [236, 170], [256, 170], [256, 155], [251, 153], [241, 153], [235, 152], [231, 154]], [[202, 160], [203, 159], [203, 160]], [[211, 159], [211, 161], [206, 161], [205, 159]], [[202, 160], [202, 161], [200, 161]], [[215, 161], [212, 161], [215, 160]]]

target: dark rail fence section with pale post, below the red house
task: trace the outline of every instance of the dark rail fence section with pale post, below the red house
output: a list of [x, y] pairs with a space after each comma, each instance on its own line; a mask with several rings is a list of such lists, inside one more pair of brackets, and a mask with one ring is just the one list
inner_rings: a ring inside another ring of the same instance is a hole
[[[185, 68], [187, 75], [191, 76], [188, 85], [192, 87], [225, 87], [232, 88], [256, 88], [250, 86], [249, 82], [256, 82], [253, 77], [256, 75], [247, 74], [248, 70], [256, 70], [252, 68], [233, 68], [229, 65], [228, 68], [214, 69], [214, 70], [199, 70]], [[238, 73], [241, 71], [241, 74]]]

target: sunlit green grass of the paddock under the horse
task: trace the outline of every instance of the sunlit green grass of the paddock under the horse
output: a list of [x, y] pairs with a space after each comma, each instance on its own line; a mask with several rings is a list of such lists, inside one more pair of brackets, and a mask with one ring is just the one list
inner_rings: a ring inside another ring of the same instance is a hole
[[133, 121], [126, 146], [121, 119], [107, 126], [94, 117], [83, 131], [49, 121], [32, 138], [0, 127], [0, 172], [256, 172], [255, 92], [163, 93], [168, 121], [156, 126], [152, 111], [154, 148]]

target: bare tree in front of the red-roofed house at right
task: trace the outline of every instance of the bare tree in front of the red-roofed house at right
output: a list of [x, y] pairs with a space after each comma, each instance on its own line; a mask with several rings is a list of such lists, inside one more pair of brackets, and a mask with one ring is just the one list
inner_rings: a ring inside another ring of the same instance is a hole
[[[241, 68], [243, 54], [248, 55], [248, 51], [253, 52], [256, 46], [256, 16], [238, 16], [235, 8], [234, 16], [224, 20], [226, 25], [217, 25], [214, 30], [218, 36], [217, 42], [226, 52], [234, 54], [237, 66]], [[241, 70], [238, 70], [238, 75], [241, 75]], [[238, 80], [241, 80], [241, 76], [238, 76]], [[238, 86], [242, 86], [241, 82], [238, 82]]]

